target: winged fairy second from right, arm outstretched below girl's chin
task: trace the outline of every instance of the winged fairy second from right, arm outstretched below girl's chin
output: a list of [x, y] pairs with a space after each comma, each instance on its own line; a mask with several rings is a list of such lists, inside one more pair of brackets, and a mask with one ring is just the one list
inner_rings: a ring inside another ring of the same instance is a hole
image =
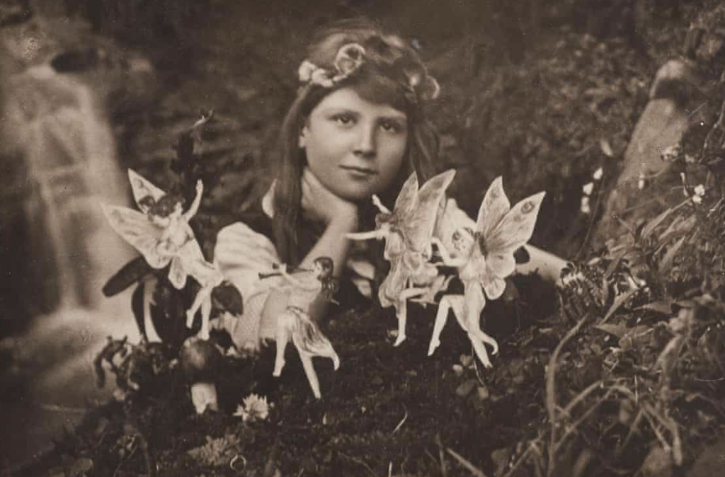
[[385, 240], [384, 257], [390, 262], [390, 271], [378, 289], [378, 299], [383, 307], [395, 307], [398, 319], [395, 346], [405, 340], [407, 300], [427, 294], [439, 276], [436, 266], [430, 262], [431, 238], [439, 203], [454, 176], [455, 170], [447, 170], [430, 178], [419, 190], [418, 177], [411, 174], [392, 211], [373, 195], [373, 204], [380, 210], [376, 215], [376, 230], [347, 234], [352, 240]]

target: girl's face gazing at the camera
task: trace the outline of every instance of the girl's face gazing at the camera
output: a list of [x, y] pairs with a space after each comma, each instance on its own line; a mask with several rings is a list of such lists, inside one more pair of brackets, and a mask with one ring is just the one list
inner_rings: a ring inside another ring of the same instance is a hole
[[323, 186], [360, 202], [393, 183], [405, 159], [407, 137], [404, 112], [340, 88], [312, 109], [299, 145]]

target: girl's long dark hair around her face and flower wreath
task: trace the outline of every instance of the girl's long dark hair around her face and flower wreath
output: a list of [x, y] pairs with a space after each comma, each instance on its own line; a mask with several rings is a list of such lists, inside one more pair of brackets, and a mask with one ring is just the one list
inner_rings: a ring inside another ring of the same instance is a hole
[[[365, 62], [356, 71], [331, 87], [308, 82], [298, 91], [289, 108], [280, 132], [281, 151], [277, 183], [274, 191], [275, 215], [273, 231], [281, 260], [299, 263], [307, 250], [301, 246], [298, 231], [302, 221], [302, 171], [307, 158], [299, 148], [302, 131], [312, 109], [325, 96], [339, 88], [352, 88], [361, 98], [375, 104], [389, 104], [407, 115], [408, 138], [404, 166], [388, 188], [380, 194], [383, 202], [393, 202], [402, 183], [413, 170], [421, 180], [435, 175], [439, 139], [423, 112], [423, 101], [411, 96], [405, 71], [417, 67], [426, 72], [421, 57], [413, 46], [399, 36], [387, 33], [381, 25], [366, 18], [341, 20], [312, 36], [306, 59], [318, 67], [334, 69], [334, 60], [341, 46], [357, 43], [365, 49]], [[361, 208], [361, 223], [372, 224], [375, 211], [370, 204]]]

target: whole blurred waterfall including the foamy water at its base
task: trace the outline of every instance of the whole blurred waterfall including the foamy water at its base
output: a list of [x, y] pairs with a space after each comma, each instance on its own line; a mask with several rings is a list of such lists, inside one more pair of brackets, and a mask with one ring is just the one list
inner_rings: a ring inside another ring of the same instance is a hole
[[104, 281], [134, 253], [100, 208], [101, 202], [129, 201], [98, 94], [82, 75], [59, 73], [50, 62], [6, 72], [0, 83], [2, 154], [22, 162], [12, 194], [3, 191], [20, 199], [3, 207], [21, 209], [28, 238], [18, 246], [28, 252], [16, 261], [21, 269], [3, 271], [10, 280], [23, 278], [16, 286], [20, 299], [41, 311], [12, 339], [13, 358], [28, 376], [22, 389], [2, 393], [0, 428], [9, 432], [2, 433], [1, 464], [47, 449], [64, 426], [80, 419], [73, 410], [109, 395], [95, 389], [92, 365], [106, 336], [140, 336], [129, 294], [101, 294]]

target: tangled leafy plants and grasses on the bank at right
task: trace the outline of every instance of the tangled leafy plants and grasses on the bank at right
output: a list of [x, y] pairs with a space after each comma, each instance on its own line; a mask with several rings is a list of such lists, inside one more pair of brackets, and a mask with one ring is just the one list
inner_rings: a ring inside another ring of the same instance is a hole
[[[697, 155], [670, 159], [682, 169], [684, 202], [629, 227], [592, 262], [612, 293], [576, 309], [581, 318], [547, 367], [546, 423], [498, 475], [666, 475], [695, 455], [689, 446], [717, 436], [714, 424], [725, 418], [725, 171], [707, 161], [725, 152], [723, 120]], [[703, 162], [708, 173], [695, 186], [687, 178]], [[616, 341], [595, 347], [602, 338]]]

